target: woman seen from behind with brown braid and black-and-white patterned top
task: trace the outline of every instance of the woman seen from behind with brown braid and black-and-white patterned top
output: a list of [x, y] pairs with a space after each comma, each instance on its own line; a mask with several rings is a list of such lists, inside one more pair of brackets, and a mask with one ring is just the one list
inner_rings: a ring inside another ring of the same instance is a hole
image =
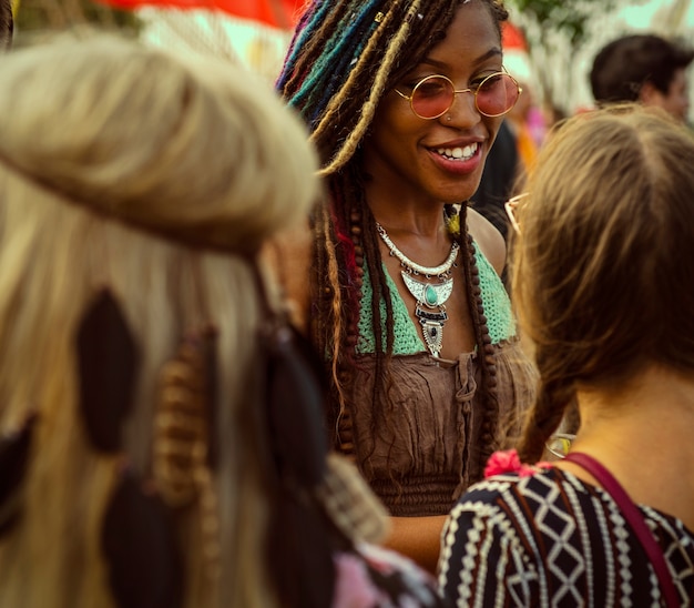
[[[691, 606], [694, 139], [660, 109], [553, 132], [512, 210], [512, 293], [538, 398], [518, 452], [452, 509], [460, 606]], [[568, 408], [569, 454], [537, 464]]]

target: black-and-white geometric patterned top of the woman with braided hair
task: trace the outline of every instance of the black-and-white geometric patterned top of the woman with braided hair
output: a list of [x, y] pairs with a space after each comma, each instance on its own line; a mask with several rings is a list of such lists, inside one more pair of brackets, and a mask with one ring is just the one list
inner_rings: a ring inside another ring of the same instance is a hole
[[[694, 606], [694, 533], [653, 508], [640, 510], [681, 605]], [[612, 497], [557, 468], [472, 486], [443, 528], [439, 586], [451, 605], [466, 608], [664, 605], [655, 571]]]

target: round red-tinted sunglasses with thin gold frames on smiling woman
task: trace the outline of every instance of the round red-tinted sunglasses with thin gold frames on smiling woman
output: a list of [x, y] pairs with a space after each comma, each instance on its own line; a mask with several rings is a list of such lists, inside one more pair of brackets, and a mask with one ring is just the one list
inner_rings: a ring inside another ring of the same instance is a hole
[[456, 90], [449, 78], [433, 74], [422, 78], [415, 84], [410, 95], [397, 89], [395, 91], [410, 102], [412, 112], [420, 119], [433, 120], [451, 109], [459, 93], [472, 93], [474, 107], [480, 114], [490, 118], [501, 116], [516, 105], [522, 89], [508, 72], [494, 72], [469, 89]]

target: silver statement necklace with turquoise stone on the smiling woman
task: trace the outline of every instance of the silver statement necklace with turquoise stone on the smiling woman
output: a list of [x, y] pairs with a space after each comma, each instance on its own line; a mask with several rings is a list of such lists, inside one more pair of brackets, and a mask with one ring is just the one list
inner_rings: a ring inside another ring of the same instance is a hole
[[[420, 266], [396, 247], [384, 226], [378, 222], [376, 222], [376, 230], [390, 251], [390, 255], [397, 257], [404, 268], [400, 274], [405, 286], [417, 301], [415, 316], [421, 325], [425, 343], [429, 352], [438, 357], [443, 344], [443, 325], [448, 321], [446, 301], [453, 292], [451, 268], [456, 266], [456, 257], [458, 257], [460, 246], [453, 242], [450, 253], [442, 264], [433, 267]], [[423, 275], [426, 278], [436, 277], [439, 283], [427, 283], [415, 278], [419, 275]]]

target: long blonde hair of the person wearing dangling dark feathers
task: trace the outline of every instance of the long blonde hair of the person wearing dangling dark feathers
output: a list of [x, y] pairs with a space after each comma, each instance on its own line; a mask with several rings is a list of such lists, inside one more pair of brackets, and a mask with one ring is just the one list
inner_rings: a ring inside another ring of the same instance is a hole
[[0, 605], [114, 605], [100, 535], [122, 456], [89, 443], [74, 344], [108, 287], [140, 353], [124, 434], [140, 475], [162, 365], [188, 330], [218, 332], [221, 572], [210, 584], [191, 508], [184, 605], [273, 606], [259, 447], [244, 422], [259, 399], [254, 256], [318, 194], [305, 129], [233, 65], [103, 36], [17, 51], [0, 87], [0, 430], [38, 413], [21, 519], [0, 537]]

